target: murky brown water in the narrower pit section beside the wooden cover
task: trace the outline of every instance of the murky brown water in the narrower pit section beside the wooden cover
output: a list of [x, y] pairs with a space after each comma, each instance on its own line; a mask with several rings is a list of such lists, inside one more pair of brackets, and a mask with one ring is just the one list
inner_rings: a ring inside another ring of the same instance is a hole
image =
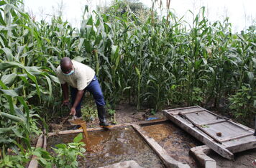
[[167, 121], [166, 123], [154, 124], [151, 126], [143, 126], [142, 129], [155, 139], [160, 146], [179, 162], [189, 164], [196, 167], [196, 162], [189, 156], [188, 152], [194, 146], [200, 146], [200, 141], [190, 136], [178, 126]]

